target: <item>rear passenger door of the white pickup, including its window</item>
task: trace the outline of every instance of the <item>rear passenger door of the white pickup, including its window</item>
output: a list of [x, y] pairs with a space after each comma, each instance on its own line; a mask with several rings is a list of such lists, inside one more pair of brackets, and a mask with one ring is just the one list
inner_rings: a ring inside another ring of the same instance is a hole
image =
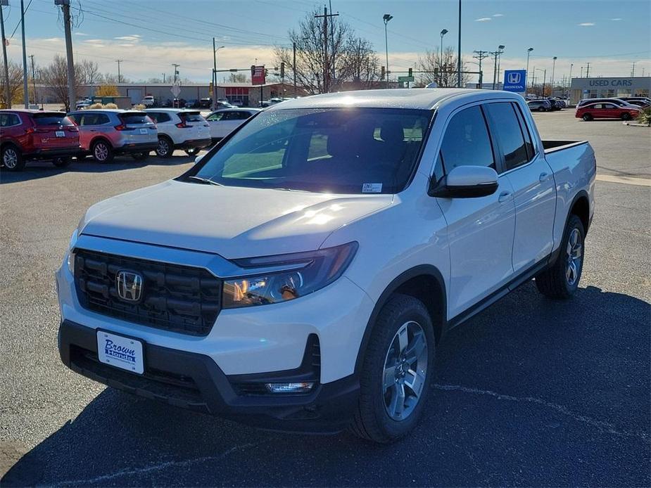
[[533, 145], [533, 135], [519, 105], [493, 102], [485, 105], [493, 140], [513, 188], [515, 236], [513, 271], [519, 274], [552, 252], [556, 190], [545, 155]]

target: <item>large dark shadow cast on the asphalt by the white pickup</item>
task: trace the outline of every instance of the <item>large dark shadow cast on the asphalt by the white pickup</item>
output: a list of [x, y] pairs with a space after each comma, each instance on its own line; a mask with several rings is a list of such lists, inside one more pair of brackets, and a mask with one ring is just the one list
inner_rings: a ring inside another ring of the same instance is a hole
[[424, 418], [388, 446], [263, 432], [104, 390], [1, 480], [18, 485], [650, 484], [651, 305], [522, 286], [438, 347]]

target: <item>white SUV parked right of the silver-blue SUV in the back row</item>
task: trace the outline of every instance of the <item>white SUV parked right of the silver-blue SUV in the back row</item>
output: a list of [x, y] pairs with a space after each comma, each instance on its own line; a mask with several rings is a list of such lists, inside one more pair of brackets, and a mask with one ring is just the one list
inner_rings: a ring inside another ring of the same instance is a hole
[[169, 158], [175, 149], [195, 155], [212, 142], [210, 126], [197, 110], [147, 108], [144, 110], [158, 127], [159, 158]]

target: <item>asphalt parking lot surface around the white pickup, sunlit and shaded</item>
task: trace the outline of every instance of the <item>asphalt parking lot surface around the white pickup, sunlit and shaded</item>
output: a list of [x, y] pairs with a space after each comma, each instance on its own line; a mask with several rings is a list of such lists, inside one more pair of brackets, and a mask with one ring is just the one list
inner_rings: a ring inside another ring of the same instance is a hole
[[1, 484], [649, 486], [651, 132], [534, 118], [543, 139], [589, 139], [600, 176], [636, 184], [598, 181], [573, 300], [528, 283], [445, 338], [422, 423], [390, 446], [253, 430], [68, 371], [53, 272], [72, 229], [192, 158], [0, 172]]

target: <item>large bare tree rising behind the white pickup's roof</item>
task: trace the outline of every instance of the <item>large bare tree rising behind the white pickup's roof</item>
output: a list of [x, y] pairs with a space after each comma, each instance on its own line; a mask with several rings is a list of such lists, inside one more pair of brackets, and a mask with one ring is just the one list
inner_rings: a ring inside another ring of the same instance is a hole
[[310, 94], [336, 91], [345, 82], [357, 81], [365, 86], [377, 79], [377, 56], [372, 45], [356, 37], [354, 30], [339, 17], [329, 18], [327, 49], [324, 49], [323, 20], [315, 18], [321, 13], [315, 8], [305, 15], [298, 30], [289, 31], [289, 39], [296, 44], [296, 66], [293, 66], [291, 48], [275, 49], [276, 64], [285, 63], [286, 77], [293, 79], [296, 72], [297, 84]]

